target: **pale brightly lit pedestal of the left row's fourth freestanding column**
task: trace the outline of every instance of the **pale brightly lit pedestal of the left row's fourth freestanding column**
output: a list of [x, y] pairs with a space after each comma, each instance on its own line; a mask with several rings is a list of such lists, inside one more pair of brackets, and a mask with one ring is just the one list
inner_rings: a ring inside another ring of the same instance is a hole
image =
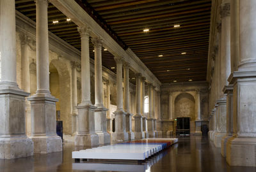
[[109, 144], [110, 143], [110, 135], [107, 132], [107, 119], [106, 113], [108, 109], [104, 107], [97, 107], [95, 109], [95, 133], [99, 136], [99, 144]]

